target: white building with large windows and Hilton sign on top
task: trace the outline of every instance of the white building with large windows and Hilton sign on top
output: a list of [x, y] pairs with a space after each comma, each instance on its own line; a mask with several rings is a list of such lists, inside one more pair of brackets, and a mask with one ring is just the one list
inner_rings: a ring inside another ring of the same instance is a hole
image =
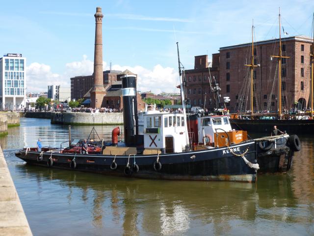
[[26, 58], [8, 53], [0, 58], [0, 109], [25, 108]]

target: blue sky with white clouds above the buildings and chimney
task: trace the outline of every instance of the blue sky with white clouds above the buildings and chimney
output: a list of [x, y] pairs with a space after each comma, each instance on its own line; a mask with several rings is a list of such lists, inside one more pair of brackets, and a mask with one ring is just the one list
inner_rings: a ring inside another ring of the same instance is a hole
[[186, 69], [219, 47], [278, 37], [278, 9], [290, 35], [311, 36], [313, 0], [1, 1], [0, 53], [27, 58], [27, 87], [68, 85], [92, 72], [96, 6], [103, 8], [104, 67], [133, 69], [142, 90], [174, 91], [176, 42]]

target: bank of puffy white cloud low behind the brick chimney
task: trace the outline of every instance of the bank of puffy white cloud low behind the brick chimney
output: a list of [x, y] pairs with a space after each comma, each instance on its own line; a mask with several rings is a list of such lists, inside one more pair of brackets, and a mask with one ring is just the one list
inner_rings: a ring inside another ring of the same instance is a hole
[[[26, 67], [26, 87], [27, 92], [47, 91], [48, 85], [61, 85], [70, 87], [70, 78], [80, 75], [91, 75], [93, 73], [94, 62], [83, 55], [81, 61], [66, 63], [63, 74], [52, 72], [52, 68], [46, 64], [33, 62]], [[109, 69], [107, 63], [103, 61], [104, 70]], [[171, 67], [162, 67], [155, 65], [153, 69], [147, 69], [142, 66], [121, 66], [113, 65], [113, 70], [124, 71], [129, 69], [137, 74], [137, 89], [140, 91], [149, 91], [158, 94], [164, 92], [179, 91], [176, 88], [179, 85], [178, 72]]]

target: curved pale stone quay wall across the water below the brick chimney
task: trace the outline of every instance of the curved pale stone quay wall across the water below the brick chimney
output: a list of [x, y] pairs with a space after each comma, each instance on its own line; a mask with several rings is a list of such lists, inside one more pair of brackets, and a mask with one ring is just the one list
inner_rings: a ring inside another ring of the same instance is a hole
[[[52, 113], [51, 123], [71, 125], [92, 125], [94, 118], [91, 113]], [[122, 113], [97, 113], [95, 114], [95, 125], [118, 125], [123, 124]]]

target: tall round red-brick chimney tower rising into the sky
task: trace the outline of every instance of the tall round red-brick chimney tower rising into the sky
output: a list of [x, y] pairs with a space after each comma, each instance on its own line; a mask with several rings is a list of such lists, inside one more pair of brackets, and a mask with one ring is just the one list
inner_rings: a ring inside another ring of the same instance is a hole
[[103, 103], [105, 88], [103, 79], [103, 13], [102, 8], [97, 7], [95, 13], [95, 52], [94, 52], [94, 85], [90, 90], [90, 107], [100, 108]]

